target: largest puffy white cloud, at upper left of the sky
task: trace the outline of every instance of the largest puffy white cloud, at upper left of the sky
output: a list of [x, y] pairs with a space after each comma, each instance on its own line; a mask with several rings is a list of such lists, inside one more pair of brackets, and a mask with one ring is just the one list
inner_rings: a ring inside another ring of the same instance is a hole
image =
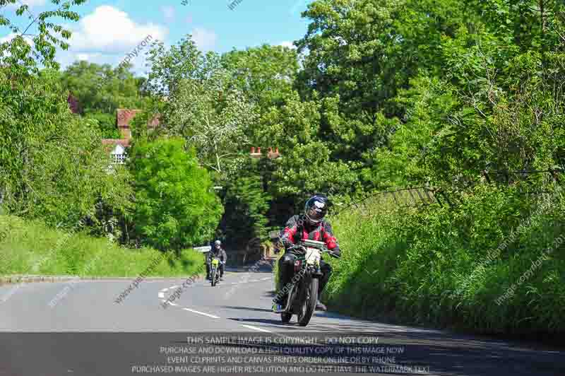
[[85, 16], [69, 40], [73, 52], [124, 54], [150, 36], [164, 40], [167, 28], [153, 23], [137, 24], [128, 14], [113, 6], [99, 6]]

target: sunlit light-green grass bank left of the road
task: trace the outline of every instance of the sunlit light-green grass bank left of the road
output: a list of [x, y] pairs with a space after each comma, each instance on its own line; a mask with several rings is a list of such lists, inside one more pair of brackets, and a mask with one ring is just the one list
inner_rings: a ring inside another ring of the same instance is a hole
[[[64, 233], [34, 221], [0, 216], [0, 275], [138, 276], [158, 259], [151, 248], [126, 249], [82, 233]], [[201, 270], [203, 254], [185, 249], [163, 257], [148, 276], [187, 276]]]

